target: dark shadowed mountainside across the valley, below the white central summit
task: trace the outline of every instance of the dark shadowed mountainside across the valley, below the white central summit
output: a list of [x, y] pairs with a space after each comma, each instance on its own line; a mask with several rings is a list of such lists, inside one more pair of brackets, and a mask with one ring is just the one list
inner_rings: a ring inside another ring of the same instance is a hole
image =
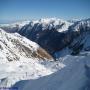
[[[21, 35], [38, 43], [53, 56], [55, 52], [58, 52], [73, 43], [77, 37], [83, 37], [86, 32], [90, 32], [89, 19], [77, 21], [69, 26], [68, 30], [62, 32], [59, 32], [55, 26], [43, 30], [43, 23], [35, 23], [33, 26], [30, 23], [18, 31]], [[77, 46], [77, 48], [78, 47], [79, 46]], [[78, 53], [78, 51], [76, 52]]]

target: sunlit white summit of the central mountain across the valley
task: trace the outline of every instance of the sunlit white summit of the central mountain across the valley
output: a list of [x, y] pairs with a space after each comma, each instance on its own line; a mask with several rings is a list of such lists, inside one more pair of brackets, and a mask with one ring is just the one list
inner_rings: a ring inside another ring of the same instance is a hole
[[42, 18], [32, 21], [30, 26], [34, 27], [36, 24], [38, 24], [36, 30], [38, 30], [38, 27], [42, 27], [42, 30], [56, 28], [58, 32], [63, 32], [68, 30], [72, 23], [59, 18]]

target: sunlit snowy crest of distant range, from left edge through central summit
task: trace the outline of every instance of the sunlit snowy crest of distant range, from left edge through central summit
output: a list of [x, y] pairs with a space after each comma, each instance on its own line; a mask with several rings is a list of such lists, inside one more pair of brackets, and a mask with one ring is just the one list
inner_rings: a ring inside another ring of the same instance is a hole
[[[11, 30], [18, 31], [24, 25], [26, 28], [27, 27], [34, 28], [36, 31], [39, 29], [51, 30], [52, 28], [55, 28], [58, 32], [63, 32], [63, 31], [67, 31], [68, 27], [70, 25], [72, 25], [72, 23], [65, 21], [63, 19], [59, 19], [59, 18], [42, 18], [39, 20], [22, 21], [22, 22], [16, 22], [16, 23], [12, 23], [12, 24], [0, 24], [0, 27], [6, 31], [9, 30], [9, 32], [10, 32]], [[16, 30], [16, 29], [18, 29], [18, 30]]]

